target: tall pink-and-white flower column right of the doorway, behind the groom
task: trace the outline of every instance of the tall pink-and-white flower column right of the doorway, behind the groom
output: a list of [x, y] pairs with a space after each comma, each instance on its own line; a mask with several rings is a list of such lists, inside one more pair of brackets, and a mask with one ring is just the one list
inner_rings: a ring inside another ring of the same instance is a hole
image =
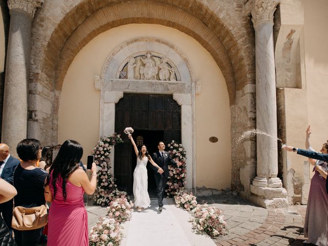
[[180, 191], [182, 191], [186, 185], [187, 168], [186, 168], [186, 150], [181, 144], [172, 140], [168, 144], [169, 153], [174, 160], [178, 160], [177, 167], [169, 166], [169, 178], [168, 178], [168, 189], [166, 193], [169, 197], [174, 197]]

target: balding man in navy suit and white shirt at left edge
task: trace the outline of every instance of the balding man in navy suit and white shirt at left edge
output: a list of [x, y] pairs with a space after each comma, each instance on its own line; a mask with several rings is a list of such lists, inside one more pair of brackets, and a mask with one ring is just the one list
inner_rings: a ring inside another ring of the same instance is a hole
[[[14, 172], [19, 160], [9, 154], [9, 147], [0, 144], [0, 177], [12, 185]], [[11, 229], [13, 199], [0, 204], [0, 213], [9, 229]]]

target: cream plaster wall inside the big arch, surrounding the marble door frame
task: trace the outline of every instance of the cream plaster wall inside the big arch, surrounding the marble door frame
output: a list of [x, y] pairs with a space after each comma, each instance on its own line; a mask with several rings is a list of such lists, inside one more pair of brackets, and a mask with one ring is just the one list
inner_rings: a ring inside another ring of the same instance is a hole
[[[76, 55], [64, 79], [58, 115], [58, 144], [75, 139], [84, 147], [83, 161], [99, 138], [100, 92], [94, 76], [100, 75], [110, 52], [139, 36], [168, 40], [189, 59], [196, 95], [196, 186], [225, 189], [231, 186], [230, 108], [226, 81], [211, 54], [192, 37], [169, 27], [129, 24], [99, 34]], [[114, 119], [109, 119], [114, 120]], [[133, 127], [133, 126], [132, 126]], [[218, 137], [212, 143], [209, 137]], [[191, 175], [191, 174], [189, 174]]]

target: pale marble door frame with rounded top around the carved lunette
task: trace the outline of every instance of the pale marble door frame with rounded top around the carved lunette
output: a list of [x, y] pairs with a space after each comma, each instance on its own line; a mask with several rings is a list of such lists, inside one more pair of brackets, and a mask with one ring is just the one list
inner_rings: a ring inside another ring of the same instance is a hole
[[[119, 79], [122, 63], [132, 54], [145, 51], [168, 57], [178, 69], [181, 81]], [[129, 93], [172, 94], [181, 106], [181, 144], [187, 151], [186, 189], [196, 191], [195, 78], [187, 57], [173, 44], [154, 37], [130, 39], [110, 52], [100, 77], [99, 136], [115, 131], [115, 104]], [[130, 127], [130, 126], [127, 126]], [[131, 126], [133, 127], [133, 126]], [[114, 163], [114, 151], [110, 158]], [[112, 175], [114, 169], [111, 169]]]

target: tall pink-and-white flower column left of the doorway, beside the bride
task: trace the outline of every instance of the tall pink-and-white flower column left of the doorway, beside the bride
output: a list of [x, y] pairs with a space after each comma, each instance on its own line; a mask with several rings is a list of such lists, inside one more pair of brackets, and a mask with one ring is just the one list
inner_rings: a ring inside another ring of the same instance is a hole
[[109, 154], [111, 153], [111, 149], [121, 142], [123, 142], [123, 140], [120, 138], [120, 135], [114, 133], [106, 137], [101, 137], [97, 142], [97, 145], [94, 147], [92, 154], [94, 155], [95, 163], [99, 168], [97, 172], [97, 189], [93, 199], [98, 205], [106, 206], [114, 197], [126, 195], [125, 192], [117, 190], [114, 179], [110, 175], [111, 166]]

